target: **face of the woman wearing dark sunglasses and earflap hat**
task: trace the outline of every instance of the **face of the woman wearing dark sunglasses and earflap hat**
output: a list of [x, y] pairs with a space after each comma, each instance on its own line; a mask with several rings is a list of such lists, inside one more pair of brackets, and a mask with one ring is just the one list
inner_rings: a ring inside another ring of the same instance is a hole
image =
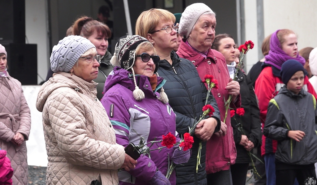
[[[141, 55], [141, 54], [149, 54], [150, 56], [154, 55], [154, 51], [142, 51], [140, 50], [140, 52], [137, 55]], [[145, 76], [153, 76], [154, 74], [154, 70], [155, 70], [155, 64], [152, 60], [152, 58], [147, 61], [144, 62], [142, 61], [141, 57], [136, 57], [134, 66], [133, 66], [133, 70], [135, 74], [140, 74], [140, 75], [145, 75]]]

